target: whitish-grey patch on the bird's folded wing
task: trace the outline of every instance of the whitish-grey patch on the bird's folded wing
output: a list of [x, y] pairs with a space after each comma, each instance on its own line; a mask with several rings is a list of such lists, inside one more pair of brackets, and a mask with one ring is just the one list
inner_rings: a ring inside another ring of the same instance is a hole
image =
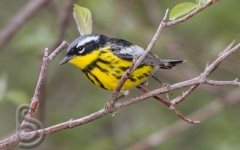
[[119, 51], [120, 54], [128, 54], [128, 55], [132, 55], [132, 56], [141, 56], [144, 52], [144, 49], [137, 46], [137, 45], [132, 45], [130, 47], [127, 48], [123, 48]]

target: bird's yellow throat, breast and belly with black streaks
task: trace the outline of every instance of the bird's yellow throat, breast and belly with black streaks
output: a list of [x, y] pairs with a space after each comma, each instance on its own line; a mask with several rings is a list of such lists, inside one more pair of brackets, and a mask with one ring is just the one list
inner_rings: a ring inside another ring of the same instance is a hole
[[[107, 90], [116, 88], [123, 73], [132, 64], [114, 55], [109, 47], [94, 50], [83, 56], [75, 56], [69, 62], [79, 67], [95, 85]], [[152, 70], [153, 66], [140, 65], [126, 80], [122, 90], [128, 90], [144, 82]]]

